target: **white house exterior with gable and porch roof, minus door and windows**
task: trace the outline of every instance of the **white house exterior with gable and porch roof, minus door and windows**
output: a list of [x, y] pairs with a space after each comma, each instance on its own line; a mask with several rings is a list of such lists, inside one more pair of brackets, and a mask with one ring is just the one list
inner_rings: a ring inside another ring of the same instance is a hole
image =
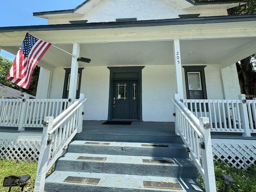
[[[138, 81], [138, 116], [117, 119], [173, 122], [170, 99], [176, 87], [182, 98], [191, 98], [186, 95], [186, 66], [204, 66], [202, 98], [237, 99], [240, 89], [234, 63], [255, 52], [255, 16], [227, 16], [227, 8], [238, 4], [90, 0], [73, 10], [34, 13], [48, 19], [47, 26], [1, 28], [1, 47], [15, 54], [29, 31], [77, 57], [90, 58], [90, 63], [72, 62], [70, 54], [52, 46], [38, 64], [42, 68], [36, 98], [62, 98], [64, 68], [84, 68], [79, 85], [88, 99], [84, 120], [116, 119], [108, 67], [144, 66]], [[174, 65], [174, 40], [180, 44], [181, 66]], [[80, 48], [74, 50], [72, 44]]]

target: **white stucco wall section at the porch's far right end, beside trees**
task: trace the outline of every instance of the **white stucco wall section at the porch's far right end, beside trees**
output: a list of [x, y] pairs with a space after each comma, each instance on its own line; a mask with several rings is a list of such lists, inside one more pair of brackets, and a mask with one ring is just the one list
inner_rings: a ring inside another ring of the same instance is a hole
[[241, 94], [236, 64], [222, 69], [222, 79], [225, 99], [238, 99]]

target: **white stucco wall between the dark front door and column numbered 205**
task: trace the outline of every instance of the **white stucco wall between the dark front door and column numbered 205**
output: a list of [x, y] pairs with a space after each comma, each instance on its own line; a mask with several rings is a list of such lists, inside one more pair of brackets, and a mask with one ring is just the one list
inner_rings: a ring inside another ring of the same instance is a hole
[[175, 91], [174, 65], [145, 66], [142, 70], [143, 121], [174, 122], [171, 99]]

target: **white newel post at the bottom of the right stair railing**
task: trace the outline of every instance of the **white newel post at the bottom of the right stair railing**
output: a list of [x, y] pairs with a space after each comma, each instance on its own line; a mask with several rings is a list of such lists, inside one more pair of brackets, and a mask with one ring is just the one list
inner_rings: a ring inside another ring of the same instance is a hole
[[204, 168], [204, 182], [206, 192], [216, 192], [216, 182], [214, 173], [214, 164], [212, 156], [212, 140], [210, 132], [210, 123], [208, 117], [200, 117], [200, 132], [204, 136], [204, 149], [202, 148], [202, 166]]

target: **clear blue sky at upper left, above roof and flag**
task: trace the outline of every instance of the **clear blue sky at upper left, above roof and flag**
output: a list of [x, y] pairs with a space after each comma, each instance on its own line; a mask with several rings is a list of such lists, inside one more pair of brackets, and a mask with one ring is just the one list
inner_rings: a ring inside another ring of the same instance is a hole
[[[2, 0], [0, 27], [46, 25], [48, 20], [34, 17], [33, 12], [74, 9], [84, 1], [85, 0]], [[0, 55], [11, 60], [15, 58], [14, 55], [4, 50], [1, 50]]]

